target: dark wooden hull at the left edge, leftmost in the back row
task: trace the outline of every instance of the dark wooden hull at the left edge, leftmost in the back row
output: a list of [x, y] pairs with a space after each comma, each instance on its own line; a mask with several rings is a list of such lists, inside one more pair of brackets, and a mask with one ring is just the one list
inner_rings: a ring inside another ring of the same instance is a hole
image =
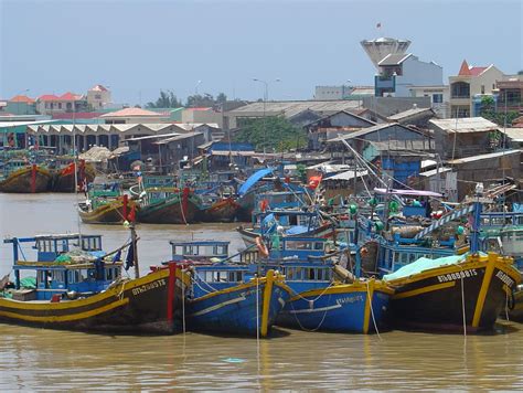
[[0, 192], [36, 193], [50, 190], [51, 172], [39, 166], [21, 168], [0, 181]]

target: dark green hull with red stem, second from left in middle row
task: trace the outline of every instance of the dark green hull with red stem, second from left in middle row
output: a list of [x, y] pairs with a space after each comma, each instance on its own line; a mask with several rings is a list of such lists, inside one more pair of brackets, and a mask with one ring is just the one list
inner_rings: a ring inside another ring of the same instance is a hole
[[199, 206], [189, 198], [185, 208], [178, 198], [140, 208], [138, 222], [147, 224], [190, 224], [195, 222]]

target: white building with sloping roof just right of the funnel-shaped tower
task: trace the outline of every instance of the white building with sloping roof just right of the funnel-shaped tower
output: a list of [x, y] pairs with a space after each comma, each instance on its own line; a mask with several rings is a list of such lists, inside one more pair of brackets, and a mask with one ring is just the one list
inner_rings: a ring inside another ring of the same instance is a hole
[[441, 86], [444, 68], [435, 62], [423, 62], [409, 54], [388, 54], [378, 63], [374, 77], [376, 97], [410, 97], [413, 86]]

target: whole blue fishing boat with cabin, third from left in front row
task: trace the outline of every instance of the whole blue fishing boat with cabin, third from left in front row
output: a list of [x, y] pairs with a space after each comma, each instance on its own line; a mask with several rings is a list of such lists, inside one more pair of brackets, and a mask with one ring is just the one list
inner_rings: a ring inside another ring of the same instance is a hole
[[324, 238], [284, 237], [277, 243], [264, 264], [285, 274], [292, 296], [276, 325], [355, 333], [384, 327], [392, 288], [374, 278], [359, 279], [334, 264], [333, 255], [325, 254]]

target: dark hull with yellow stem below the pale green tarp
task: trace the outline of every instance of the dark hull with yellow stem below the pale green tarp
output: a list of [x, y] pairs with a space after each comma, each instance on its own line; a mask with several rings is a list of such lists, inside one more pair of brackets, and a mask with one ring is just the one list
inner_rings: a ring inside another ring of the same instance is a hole
[[395, 288], [391, 300], [394, 325], [427, 330], [492, 329], [508, 294], [520, 282], [512, 259], [495, 254], [389, 280]]

